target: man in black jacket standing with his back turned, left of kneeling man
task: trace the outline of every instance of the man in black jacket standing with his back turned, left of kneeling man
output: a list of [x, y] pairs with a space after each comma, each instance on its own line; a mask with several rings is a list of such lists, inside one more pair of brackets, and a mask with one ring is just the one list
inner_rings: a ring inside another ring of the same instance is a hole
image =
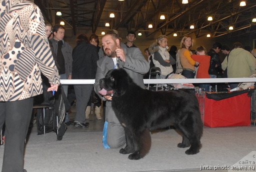
[[[85, 34], [77, 36], [77, 45], [72, 52], [72, 79], [95, 79], [97, 70], [98, 51], [96, 46], [89, 43]], [[93, 85], [74, 85], [76, 97], [76, 115], [74, 126], [88, 127], [85, 122], [84, 110], [89, 101]]]

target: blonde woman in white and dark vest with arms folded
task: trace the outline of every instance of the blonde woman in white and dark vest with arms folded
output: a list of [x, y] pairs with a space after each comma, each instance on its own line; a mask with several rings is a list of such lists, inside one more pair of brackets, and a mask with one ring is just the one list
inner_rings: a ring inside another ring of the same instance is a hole
[[152, 45], [149, 46], [148, 50], [152, 55], [152, 60], [155, 67], [161, 69], [162, 78], [165, 78], [168, 74], [173, 72], [172, 64], [176, 61], [170, 56], [167, 51], [167, 36], [159, 35]]

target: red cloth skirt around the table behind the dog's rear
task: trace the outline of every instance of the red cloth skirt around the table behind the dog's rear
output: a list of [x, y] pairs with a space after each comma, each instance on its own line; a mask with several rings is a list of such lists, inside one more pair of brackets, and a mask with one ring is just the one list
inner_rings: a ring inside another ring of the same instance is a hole
[[250, 97], [247, 93], [222, 100], [204, 100], [204, 125], [248, 126], [250, 125]]

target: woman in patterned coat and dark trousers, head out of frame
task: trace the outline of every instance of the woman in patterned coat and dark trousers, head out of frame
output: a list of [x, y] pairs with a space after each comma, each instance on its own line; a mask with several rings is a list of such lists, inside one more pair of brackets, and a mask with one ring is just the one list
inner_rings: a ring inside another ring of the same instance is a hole
[[25, 171], [24, 139], [33, 96], [42, 93], [40, 73], [57, 90], [55, 66], [40, 9], [26, 0], [0, 0], [0, 129], [6, 141], [2, 172]]

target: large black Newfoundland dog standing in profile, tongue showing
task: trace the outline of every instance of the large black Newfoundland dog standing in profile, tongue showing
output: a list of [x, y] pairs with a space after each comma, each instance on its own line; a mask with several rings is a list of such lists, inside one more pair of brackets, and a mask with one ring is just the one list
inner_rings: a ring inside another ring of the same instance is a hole
[[186, 154], [199, 152], [202, 121], [198, 101], [191, 91], [150, 91], [136, 85], [124, 69], [109, 70], [99, 80], [105, 92], [112, 93], [112, 107], [124, 127], [126, 146], [120, 153], [140, 159], [151, 146], [150, 131], [173, 124], [181, 131], [178, 147]]

